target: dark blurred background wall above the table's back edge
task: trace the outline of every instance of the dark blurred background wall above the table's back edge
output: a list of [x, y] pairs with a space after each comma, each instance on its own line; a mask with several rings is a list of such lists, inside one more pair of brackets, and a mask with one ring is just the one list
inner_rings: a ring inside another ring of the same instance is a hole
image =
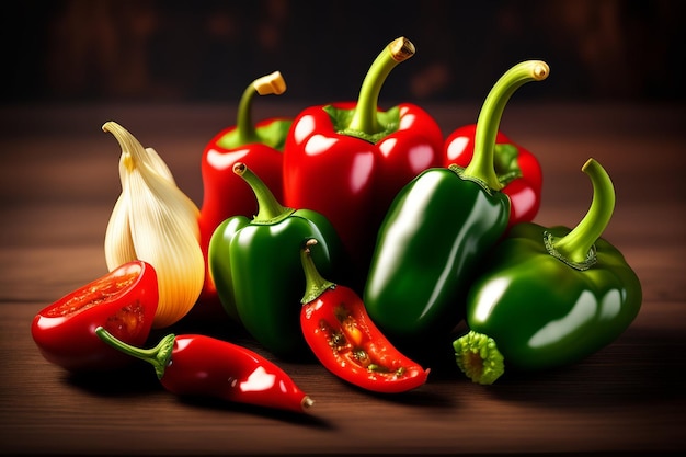
[[[387, 101], [483, 99], [541, 58], [522, 98], [685, 99], [686, 2], [677, 0], [26, 0], [3, 3], [1, 102], [235, 101], [281, 70], [289, 100], [355, 99], [398, 36], [416, 55]], [[8, 75], [9, 73], [9, 75]], [[282, 95], [284, 96], [284, 95]]]

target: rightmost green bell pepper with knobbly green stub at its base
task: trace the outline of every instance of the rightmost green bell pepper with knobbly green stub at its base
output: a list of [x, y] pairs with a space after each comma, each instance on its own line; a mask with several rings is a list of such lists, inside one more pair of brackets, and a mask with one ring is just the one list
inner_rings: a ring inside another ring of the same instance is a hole
[[581, 222], [512, 228], [484, 263], [467, 298], [469, 332], [453, 346], [459, 368], [492, 384], [504, 367], [538, 370], [581, 361], [633, 321], [641, 283], [622, 254], [599, 238], [615, 208], [613, 183], [590, 159], [594, 194]]

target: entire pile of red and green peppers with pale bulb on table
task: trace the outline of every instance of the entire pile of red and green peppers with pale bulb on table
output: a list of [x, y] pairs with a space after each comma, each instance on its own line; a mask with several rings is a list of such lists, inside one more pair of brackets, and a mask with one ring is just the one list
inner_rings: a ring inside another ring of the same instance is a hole
[[[145, 359], [173, 393], [301, 412], [313, 400], [279, 359], [313, 355], [342, 381], [392, 395], [430, 381], [443, 354], [490, 385], [506, 370], [579, 363], [615, 341], [642, 292], [601, 238], [615, 208], [608, 173], [587, 159], [585, 217], [571, 229], [541, 227], [541, 167], [499, 130], [511, 96], [545, 80], [548, 65], [513, 66], [476, 124], [444, 137], [420, 106], [378, 107], [384, 81], [414, 53], [404, 37], [386, 46], [356, 102], [253, 125], [254, 93], [286, 91], [279, 72], [256, 79], [237, 125], [204, 149], [201, 208], [160, 155], [105, 123], [122, 148], [110, 273], [37, 313], [32, 335], [45, 358], [72, 372]], [[145, 349], [152, 329], [206, 300], [273, 358], [230, 334], [170, 333]]]

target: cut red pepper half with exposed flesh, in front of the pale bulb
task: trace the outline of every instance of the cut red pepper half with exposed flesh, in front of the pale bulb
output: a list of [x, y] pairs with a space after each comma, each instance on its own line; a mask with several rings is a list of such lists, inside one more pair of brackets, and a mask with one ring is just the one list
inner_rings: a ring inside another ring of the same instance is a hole
[[142, 344], [158, 306], [155, 269], [142, 261], [125, 263], [41, 310], [31, 334], [43, 356], [71, 372], [106, 370], [130, 358], [95, 335], [104, 327], [122, 341]]

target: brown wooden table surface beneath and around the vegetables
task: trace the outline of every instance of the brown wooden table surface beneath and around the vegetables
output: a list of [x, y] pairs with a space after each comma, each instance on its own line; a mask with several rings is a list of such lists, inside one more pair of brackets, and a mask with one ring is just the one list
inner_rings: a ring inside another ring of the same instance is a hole
[[[255, 106], [293, 115], [307, 103]], [[479, 103], [427, 105], [444, 132], [471, 123]], [[421, 389], [379, 396], [339, 381], [318, 364], [279, 363], [316, 401], [304, 415], [164, 391], [148, 365], [72, 376], [47, 363], [30, 333], [34, 315], [106, 272], [103, 239], [121, 192], [121, 149], [106, 121], [156, 148], [199, 206], [201, 153], [235, 123], [225, 105], [4, 106], [0, 110], [0, 454], [348, 455], [633, 452], [686, 449], [686, 116], [677, 105], [511, 101], [502, 129], [540, 159], [541, 225], [575, 225], [597, 159], [617, 207], [604, 238], [643, 285], [633, 324], [574, 366], [495, 385], [455, 368]], [[196, 317], [199, 331], [268, 353], [228, 320]], [[658, 455], [658, 454], [651, 454]]]

